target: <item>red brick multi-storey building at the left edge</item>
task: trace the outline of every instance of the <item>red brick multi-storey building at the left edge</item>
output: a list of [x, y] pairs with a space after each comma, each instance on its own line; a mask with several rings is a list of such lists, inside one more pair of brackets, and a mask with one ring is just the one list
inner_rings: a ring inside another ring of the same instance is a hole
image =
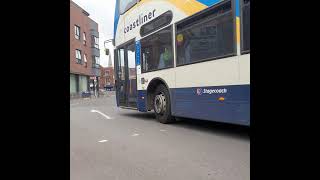
[[70, 1], [70, 96], [95, 91], [99, 85], [98, 24], [89, 13]]

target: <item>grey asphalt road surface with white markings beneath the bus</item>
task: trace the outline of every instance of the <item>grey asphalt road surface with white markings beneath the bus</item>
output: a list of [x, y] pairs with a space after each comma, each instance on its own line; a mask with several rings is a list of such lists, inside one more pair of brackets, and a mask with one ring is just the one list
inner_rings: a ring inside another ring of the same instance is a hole
[[248, 128], [161, 124], [116, 107], [113, 92], [70, 101], [71, 180], [249, 180]]

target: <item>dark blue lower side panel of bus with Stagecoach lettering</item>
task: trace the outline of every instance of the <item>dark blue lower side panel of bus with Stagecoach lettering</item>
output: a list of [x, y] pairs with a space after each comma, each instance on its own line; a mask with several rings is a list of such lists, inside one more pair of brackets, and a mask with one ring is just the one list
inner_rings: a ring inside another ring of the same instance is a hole
[[171, 92], [174, 116], [250, 126], [249, 84], [175, 88]]

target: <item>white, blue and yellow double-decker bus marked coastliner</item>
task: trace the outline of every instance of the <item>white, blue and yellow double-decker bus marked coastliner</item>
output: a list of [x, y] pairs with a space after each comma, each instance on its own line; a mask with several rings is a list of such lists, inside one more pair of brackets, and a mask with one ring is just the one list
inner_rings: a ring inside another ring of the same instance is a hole
[[117, 0], [117, 106], [250, 126], [250, 0]]

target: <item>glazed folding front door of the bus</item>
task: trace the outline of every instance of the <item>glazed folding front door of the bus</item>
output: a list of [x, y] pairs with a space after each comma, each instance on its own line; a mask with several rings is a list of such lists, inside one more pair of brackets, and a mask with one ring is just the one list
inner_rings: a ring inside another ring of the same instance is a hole
[[135, 44], [132, 41], [117, 50], [117, 101], [119, 106], [137, 107]]

